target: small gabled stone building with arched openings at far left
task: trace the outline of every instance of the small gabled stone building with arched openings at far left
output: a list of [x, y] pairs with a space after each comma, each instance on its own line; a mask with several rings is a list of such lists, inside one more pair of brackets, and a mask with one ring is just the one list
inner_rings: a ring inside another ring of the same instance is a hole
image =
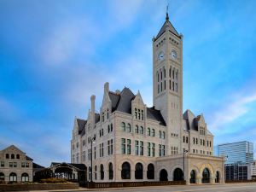
[[32, 182], [32, 159], [15, 145], [0, 151], [0, 180], [9, 182]]

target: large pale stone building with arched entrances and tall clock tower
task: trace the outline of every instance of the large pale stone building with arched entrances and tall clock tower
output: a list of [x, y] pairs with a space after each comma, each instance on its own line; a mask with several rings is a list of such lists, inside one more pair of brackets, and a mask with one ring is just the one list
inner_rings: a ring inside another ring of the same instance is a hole
[[95, 182], [224, 183], [224, 159], [213, 156], [203, 115], [183, 113], [183, 35], [168, 14], [152, 46], [154, 106], [139, 91], [105, 83], [99, 113], [91, 96], [87, 119], [74, 119], [72, 163], [84, 163]]

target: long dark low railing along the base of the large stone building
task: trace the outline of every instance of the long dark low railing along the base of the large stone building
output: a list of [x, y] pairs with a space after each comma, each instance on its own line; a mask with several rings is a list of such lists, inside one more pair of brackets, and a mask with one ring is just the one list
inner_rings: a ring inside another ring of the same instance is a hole
[[80, 183], [81, 187], [89, 189], [104, 188], [125, 188], [125, 187], [143, 187], [143, 186], [160, 186], [160, 185], [184, 185], [186, 181], [159, 181], [159, 182], [111, 182], [111, 183]]

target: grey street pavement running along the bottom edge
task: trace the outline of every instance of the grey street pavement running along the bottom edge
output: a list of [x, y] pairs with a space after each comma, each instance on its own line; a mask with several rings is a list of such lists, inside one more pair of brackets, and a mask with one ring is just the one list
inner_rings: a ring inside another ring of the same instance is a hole
[[[183, 186], [150, 186], [112, 189], [76, 189], [76, 190], [37, 190], [29, 192], [78, 192], [78, 191], [109, 191], [109, 192], [256, 192], [256, 183], [228, 183], [214, 185], [183, 185]], [[24, 191], [23, 191], [24, 192]]]

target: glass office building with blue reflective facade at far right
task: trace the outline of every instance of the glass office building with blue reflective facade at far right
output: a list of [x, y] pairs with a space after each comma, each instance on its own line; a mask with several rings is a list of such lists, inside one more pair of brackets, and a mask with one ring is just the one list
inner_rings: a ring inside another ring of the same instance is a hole
[[225, 156], [225, 164], [252, 164], [253, 143], [238, 142], [218, 145], [218, 156]]

